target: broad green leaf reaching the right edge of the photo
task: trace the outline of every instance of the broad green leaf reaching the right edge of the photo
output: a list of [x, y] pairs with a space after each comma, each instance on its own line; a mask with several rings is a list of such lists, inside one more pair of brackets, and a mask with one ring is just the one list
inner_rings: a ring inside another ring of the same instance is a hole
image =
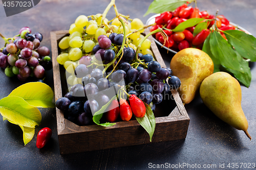
[[223, 31], [228, 43], [244, 58], [256, 61], [256, 38], [239, 30]]

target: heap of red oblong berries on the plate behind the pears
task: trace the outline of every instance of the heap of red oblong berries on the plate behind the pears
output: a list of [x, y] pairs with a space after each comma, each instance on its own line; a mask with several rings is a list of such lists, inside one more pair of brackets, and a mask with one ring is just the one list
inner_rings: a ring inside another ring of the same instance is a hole
[[[183, 32], [172, 31], [181, 22], [184, 22], [189, 18], [205, 18], [205, 19], [212, 19], [212, 20], [207, 21], [207, 28], [203, 29], [197, 35], [193, 35], [195, 26], [189, 27], [185, 29]], [[180, 51], [188, 47], [196, 47], [201, 50], [204, 40], [210, 33], [209, 29], [212, 27], [212, 25], [214, 25], [215, 22], [219, 30], [225, 31], [225, 30], [236, 29], [236, 27], [234, 27], [233, 25], [230, 25], [227, 18], [223, 15], [217, 15], [217, 18], [216, 18], [215, 15], [210, 15], [207, 11], [200, 12], [198, 7], [193, 8], [191, 6], [188, 7], [187, 4], [183, 4], [173, 12], [167, 11], [167, 12], [161, 13], [160, 16], [157, 16], [155, 20], [156, 25], [151, 27], [150, 31], [152, 32], [158, 28], [163, 28], [164, 32], [168, 36], [168, 42], [164, 43], [164, 38], [161, 35], [161, 33], [156, 33], [153, 36], [160, 43], [164, 44], [166, 47], [174, 51]], [[222, 32], [220, 33], [223, 36], [223, 38], [226, 39], [225, 35]]]

